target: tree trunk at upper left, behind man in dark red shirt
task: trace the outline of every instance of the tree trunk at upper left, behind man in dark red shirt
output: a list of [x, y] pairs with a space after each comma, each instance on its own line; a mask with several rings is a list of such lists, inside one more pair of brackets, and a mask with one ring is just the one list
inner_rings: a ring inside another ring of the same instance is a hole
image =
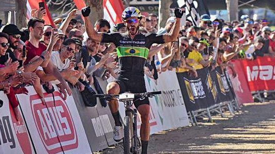
[[16, 25], [19, 29], [27, 27], [27, 0], [16, 0]]

